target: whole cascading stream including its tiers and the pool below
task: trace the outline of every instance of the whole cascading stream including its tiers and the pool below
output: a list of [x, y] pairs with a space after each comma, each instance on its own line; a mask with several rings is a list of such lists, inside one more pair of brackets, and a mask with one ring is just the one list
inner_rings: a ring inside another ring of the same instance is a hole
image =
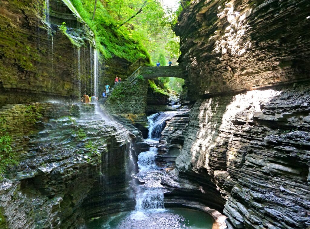
[[150, 145], [138, 156], [139, 172], [134, 178], [136, 185], [136, 205], [134, 211], [108, 215], [90, 222], [87, 228], [212, 228], [210, 215], [184, 208], [164, 207], [165, 187], [161, 185], [165, 168], [156, 163], [157, 145], [166, 121], [177, 112], [160, 112], [148, 117]]

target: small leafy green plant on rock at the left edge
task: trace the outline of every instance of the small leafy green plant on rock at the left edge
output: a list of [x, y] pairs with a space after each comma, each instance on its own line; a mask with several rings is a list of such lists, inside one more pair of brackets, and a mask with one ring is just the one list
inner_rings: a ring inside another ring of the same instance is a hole
[[11, 136], [0, 137], [0, 180], [3, 179], [7, 167], [18, 164], [17, 154], [12, 151], [11, 143]]

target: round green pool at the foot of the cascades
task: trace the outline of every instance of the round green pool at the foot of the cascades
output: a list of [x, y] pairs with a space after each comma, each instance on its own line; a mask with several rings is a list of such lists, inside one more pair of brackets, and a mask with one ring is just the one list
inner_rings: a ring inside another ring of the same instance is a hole
[[152, 209], [143, 212], [131, 211], [108, 215], [89, 222], [86, 228], [111, 229], [162, 229], [162, 228], [200, 228], [211, 229], [213, 220], [207, 213], [186, 209]]

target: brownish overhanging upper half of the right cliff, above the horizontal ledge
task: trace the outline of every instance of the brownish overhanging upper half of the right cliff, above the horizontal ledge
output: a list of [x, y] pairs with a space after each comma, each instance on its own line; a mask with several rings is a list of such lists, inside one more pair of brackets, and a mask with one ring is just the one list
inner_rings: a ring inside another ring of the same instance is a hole
[[175, 28], [192, 100], [308, 79], [309, 7], [307, 0], [192, 3]]

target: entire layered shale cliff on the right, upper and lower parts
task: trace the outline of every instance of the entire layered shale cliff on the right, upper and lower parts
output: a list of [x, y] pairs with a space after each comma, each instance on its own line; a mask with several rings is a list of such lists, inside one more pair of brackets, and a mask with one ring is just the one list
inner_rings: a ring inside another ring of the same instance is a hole
[[202, 202], [234, 228], [310, 227], [309, 4], [201, 0], [181, 14], [195, 104], [186, 128], [163, 132], [180, 149], [167, 200]]

